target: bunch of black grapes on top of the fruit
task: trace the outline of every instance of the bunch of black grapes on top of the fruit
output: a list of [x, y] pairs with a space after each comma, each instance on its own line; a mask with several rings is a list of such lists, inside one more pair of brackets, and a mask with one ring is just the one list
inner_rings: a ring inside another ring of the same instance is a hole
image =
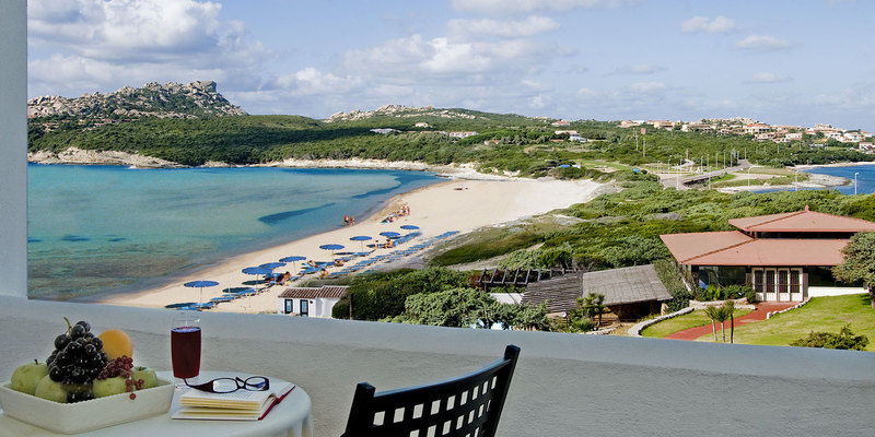
[[46, 359], [48, 376], [61, 383], [91, 383], [106, 366], [103, 341], [90, 332], [91, 324], [86, 321], [71, 327], [67, 320], [67, 332], [55, 339], [55, 351]]

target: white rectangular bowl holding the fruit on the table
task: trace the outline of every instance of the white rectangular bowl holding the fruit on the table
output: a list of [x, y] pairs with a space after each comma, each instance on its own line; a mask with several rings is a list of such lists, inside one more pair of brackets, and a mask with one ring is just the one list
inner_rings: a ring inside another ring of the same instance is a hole
[[77, 434], [166, 413], [173, 401], [174, 386], [164, 379], [158, 387], [77, 403], [39, 399], [0, 385], [0, 406], [12, 418], [60, 434]]

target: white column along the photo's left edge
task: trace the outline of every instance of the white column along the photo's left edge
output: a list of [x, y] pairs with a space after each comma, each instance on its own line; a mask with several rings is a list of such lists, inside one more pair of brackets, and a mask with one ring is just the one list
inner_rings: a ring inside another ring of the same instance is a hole
[[27, 297], [27, 2], [0, 1], [0, 295]]

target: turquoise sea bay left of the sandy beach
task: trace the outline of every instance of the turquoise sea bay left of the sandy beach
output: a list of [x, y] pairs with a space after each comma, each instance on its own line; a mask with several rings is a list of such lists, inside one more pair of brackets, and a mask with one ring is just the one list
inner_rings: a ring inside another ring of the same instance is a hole
[[[28, 293], [133, 292], [361, 221], [430, 173], [28, 165]], [[326, 241], [334, 243], [334, 241]], [[294, 253], [289, 253], [294, 255]]]

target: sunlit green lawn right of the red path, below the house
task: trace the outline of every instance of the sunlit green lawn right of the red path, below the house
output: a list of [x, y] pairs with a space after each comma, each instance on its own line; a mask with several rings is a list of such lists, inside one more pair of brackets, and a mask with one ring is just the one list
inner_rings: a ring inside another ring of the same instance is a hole
[[[810, 331], [836, 333], [844, 324], [850, 324], [855, 335], [868, 336], [866, 350], [875, 351], [875, 309], [866, 294], [814, 297], [801, 308], [735, 328], [735, 342], [786, 346], [796, 339], [807, 336]], [[713, 339], [709, 334], [698, 341]]]

